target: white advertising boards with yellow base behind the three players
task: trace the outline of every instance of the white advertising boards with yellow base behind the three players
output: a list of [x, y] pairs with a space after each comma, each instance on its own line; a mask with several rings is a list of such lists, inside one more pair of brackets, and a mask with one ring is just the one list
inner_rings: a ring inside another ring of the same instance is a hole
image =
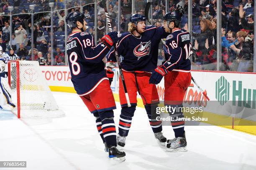
[[[68, 66], [40, 66], [43, 76], [52, 91], [63, 91], [76, 93], [74, 86], [71, 81], [70, 71]], [[119, 70], [117, 68], [113, 69], [115, 76], [111, 84], [111, 89], [113, 91], [116, 101], [119, 101], [118, 90], [119, 90]], [[197, 84], [207, 92], [207, 96], [210, 101], [207, 101], [205, 97], [201, 94], [200, 90], [191, 82], [184, 96], [187, 101], [202, 101], [203, 105], [208, 104], [211, 107], [206, 107], [204, 109], [204, 114], [209, 117], [215, 117], [211, 122], [215, 124], [215, 121], [220, 119], [227, 119], [228, 122], [234, 121], [232, 115], [236, 117], [235, 120], [239, 118], [246, 117], [246, 119], [241, 119], [242, 121], [247, 121], [250, 124], [251, 121], [256, 120], [256, 74], [255, 73], [239, 73], [239, 72], [219, 72], [219, 71], [191, 71], [192, 76], [197, 81]], [[164, 100], [164, 79], [156, 85], [160, 101]], [[195, 95], [197, 94], [197, 95]], [[201, 94], [200, 99], [197, 97]], [[246, 95], [244, 95], [246, 94]], [[251, 96], [251, 101], [246, 102], [249, 105], [244, 106], [244, 102], [248, 101], [248, 96]], [[233, 105], [233, 99], [236, 100], [235, 105]], [[139, 107], [143, 107], [143, 102], [141, 96], [137, 96]], [[225, 109], [229, 104], [232, 108], [239, 107], [238, 101], [241, 100], [241, 107], [243, 107], [243, 113], [233, 113]], [[249, 106], [249, 107], [248, 107]], [[224, 108], [223, 108], [224, 107]], [[245, 115], [247, 113], [248, 115]], [[209, 115], [207, 115], [209, 114]], [[228, 128], [233, 128], [241, 130], [243, 132], [248, 132], [251, 134], [256, 134], [256, 126], [224, 126]]]

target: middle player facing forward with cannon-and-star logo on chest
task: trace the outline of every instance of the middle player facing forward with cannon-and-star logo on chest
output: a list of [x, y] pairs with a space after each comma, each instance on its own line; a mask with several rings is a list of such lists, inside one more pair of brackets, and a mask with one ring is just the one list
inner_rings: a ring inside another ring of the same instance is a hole
[[[157, 66], [159, 42], [161, 38], [165, 38], [169, 33], [166, 33], [163, 27], [146, 27], [146, 17], [141, 14], [131, 16], [128, 31], [128, 33], [120, 34], [117, 44], [118, 55], [123, 56], [121, 66], [131, 102], [131, 107], [128, 107], [123, 84], [119, 81], [119, 98], [122, 109], [118, 126], [118, 145], [125, 146], [125, 139], [128, 136], [136, 110], [137, 91], [143, 100], [155, 138], [162, 145], [165, 145], [166, 138], [161, 132], [162, 122], [156, 120], [156, 107], [159, 104], [159, 96], [156, 86], [149, 84], [148, 81], [151, 72]], [[116, 62], [113, 50], [107, 58], [108, 75], [111, 75], [111, 69], [113, 69]]]

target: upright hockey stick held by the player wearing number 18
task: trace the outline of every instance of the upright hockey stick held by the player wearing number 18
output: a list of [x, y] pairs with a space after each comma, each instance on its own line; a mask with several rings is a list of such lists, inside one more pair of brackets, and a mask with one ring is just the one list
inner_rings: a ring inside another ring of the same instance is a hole
[[[110, 23], [110, 19], [109, 19], [109, 16], [108, 16], [108, 9], [107, 9], [107, 5], [106, 5], [105, 0], [102, 0], [102, 5], [103, 5], [103, 8], [105, 10], [105, 15], [106, 15], [106, 20], [108, 22], [109, 32], [113, 32], [112, 27], [111, 27], [111, 23]], [[120, 63], [120, 60], [119, 60], [118, 52], [116, 50], [116, 44], [114, 44], [114, 52], [115, 52], [116, 61], [118, 62], [118, 68], [119, 68], [120, 76], [121, 76], [122, 83], [123, 83], [123, 89], [125, 91], [125, 98], [126, 98], [126, 101], [127, 101], [127, 105], [128, 105], [128, 107], [131, 107], [130, 99], [129, 99], [129, 96], [128, 96], [128, 93], [127, 93], [127, 88], [126, 88], [125, 80], [124, 80], [124, 76], [123, 76], [123, 70], [121, 68], [121, 63]]]

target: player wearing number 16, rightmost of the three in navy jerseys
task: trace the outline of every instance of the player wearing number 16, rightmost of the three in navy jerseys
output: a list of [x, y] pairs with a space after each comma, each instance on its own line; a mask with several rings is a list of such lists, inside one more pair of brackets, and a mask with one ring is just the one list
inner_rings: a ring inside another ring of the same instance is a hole
[[[166, 37], [165, 61], [151, 74], [149, 83], [159, 84], [164, 76], [164, 104], [171, 107], [182, 107], [183, 97], [191, 81], [192, 54], [190, 34], [187, 30], [180, 29], [182, 13], [172, 11], [163, 16], [163, 25], [166, 32], [171, 33]], [[180, 112], [179, 112], [180, 111]], [[183, 118], [182, 110], [179, 109], [170, 116], [174, 119]], [[186, 150], [187, 141], [184, 131], [184, 121], [171, 121], [175, 138], [167, 140], [167, 150]]]

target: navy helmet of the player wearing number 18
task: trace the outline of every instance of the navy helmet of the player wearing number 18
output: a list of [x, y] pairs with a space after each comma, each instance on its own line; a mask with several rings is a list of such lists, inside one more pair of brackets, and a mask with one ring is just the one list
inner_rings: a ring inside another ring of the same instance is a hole
[[80, 12], [71, 12], [66, 17], [66, 23], [69, 29], [77, 27], [77, 21], [84, 23], [84, 14]]

